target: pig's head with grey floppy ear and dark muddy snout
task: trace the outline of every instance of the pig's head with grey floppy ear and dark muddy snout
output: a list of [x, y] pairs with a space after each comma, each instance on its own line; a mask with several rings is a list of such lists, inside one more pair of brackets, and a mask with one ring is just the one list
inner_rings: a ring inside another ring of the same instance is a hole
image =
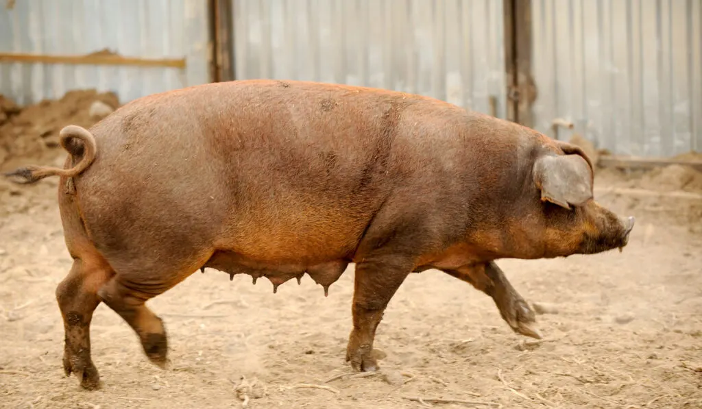
[[547, 257], [601, 253], [629, 241], [634, 217], [619, 217], [592, 196], [592, 163], [582, 149], [556, 141], [564, 152], [543, 152], [534, 162], [541, 194], [543, 245]]

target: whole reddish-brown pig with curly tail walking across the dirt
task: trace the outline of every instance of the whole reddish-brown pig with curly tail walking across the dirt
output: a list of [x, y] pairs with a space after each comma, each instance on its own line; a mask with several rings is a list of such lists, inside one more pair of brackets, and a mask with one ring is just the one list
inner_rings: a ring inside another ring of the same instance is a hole
[[324, 288], [355, 264], [346, 361], [378, 368], [373, 340], [412, 272], [438, 269], [493, 298], [515, 332], [534, 311], [495, 260], [623, 248], [633, 217], [597, 204], [582, 149], [441, 100], [307, 81], [210, 83], [133, 100], [89, 130], [66, 126], [59, 176], [73, 264], [56, 288], [63, 367], [100, 387], [89, 329], [104, 302], [166, 368], [163, 321], [145, 302], [205, 267], [273, 291]]

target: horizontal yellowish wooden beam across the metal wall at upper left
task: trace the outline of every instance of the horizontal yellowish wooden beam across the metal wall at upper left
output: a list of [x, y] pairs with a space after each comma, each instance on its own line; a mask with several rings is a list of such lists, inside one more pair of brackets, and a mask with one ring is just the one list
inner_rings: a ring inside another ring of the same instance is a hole
[[135, 65], [138, 67], [185, 68], [185, 58], [134, 58], [104, 53], [94, 53], [87, 55], [0, 53], [0, 62], [41, 62], [46, 64], [75, 65]]

